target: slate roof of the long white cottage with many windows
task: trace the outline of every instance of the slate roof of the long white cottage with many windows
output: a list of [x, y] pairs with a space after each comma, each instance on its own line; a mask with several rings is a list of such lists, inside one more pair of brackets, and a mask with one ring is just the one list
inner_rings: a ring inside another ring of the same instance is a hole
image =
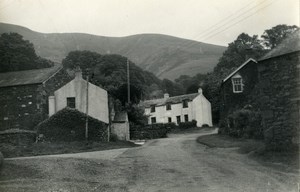
[[169, 97], [169, 98], [146, 100], [146, 101], [141, 102], [140, 105], [143, 107], [150, 107], [153, 105], [163, 106], [163, 105], [166, 105], [167, 103], [176, 104], [176, 103], [181, 103], [184, 100], [192, 101], [198, 95], [199, 95], [199, 93], [192, 93], [192, 94], [179, 95], [179, 96], [174, 96], [174, 97]]

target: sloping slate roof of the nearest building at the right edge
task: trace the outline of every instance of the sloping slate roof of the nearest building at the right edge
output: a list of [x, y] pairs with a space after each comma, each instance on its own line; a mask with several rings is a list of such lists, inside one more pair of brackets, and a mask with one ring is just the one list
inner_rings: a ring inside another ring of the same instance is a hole
[[295, 31], [258, 61], [300, 51], [300, 30]]

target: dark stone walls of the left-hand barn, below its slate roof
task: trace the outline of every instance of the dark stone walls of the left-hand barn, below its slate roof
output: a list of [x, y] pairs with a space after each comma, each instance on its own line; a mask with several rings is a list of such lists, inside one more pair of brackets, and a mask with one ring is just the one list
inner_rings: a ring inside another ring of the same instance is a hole
[[48, 116], [48, 96], [71, 79], [60, 70], [44, 84], [0, 88], [0, 131], [33, 130]]

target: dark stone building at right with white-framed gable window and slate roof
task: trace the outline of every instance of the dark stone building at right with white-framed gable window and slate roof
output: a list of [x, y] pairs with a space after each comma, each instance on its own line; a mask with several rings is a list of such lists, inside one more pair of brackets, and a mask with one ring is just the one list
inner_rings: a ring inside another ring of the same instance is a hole
[[264, 138], [271, 147], [299, 143], [299, 31], [258, 61], [242, 64], [221, 86], [221, 121], [246, 105], [262, 116]]

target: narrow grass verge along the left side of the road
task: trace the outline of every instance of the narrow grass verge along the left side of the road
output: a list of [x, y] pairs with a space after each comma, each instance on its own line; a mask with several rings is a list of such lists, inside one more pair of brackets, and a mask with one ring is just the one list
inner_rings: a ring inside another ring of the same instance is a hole
[[134, 143], [128, 141], [115, 142], [44, 142], [33, 143], [31, 145], [10, 145], [1, 144], [0, 151], [5, 158], [10, 157], [28, 157], [37, 155], [53, 155], [64, 153], [79, 153], [89, 151], [103, 151], [108, 149], [136, 147]]

